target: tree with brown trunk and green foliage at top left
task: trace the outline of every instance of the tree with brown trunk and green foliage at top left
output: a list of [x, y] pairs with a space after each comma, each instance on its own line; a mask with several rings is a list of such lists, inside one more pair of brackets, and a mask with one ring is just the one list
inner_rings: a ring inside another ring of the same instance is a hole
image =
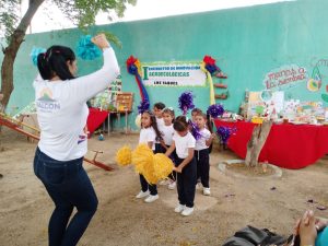
[[[136, 5], [137, 0], [28, 0], [26, 13], [19, 15], [22, 0], [0, 0], [0, 37], [5, 37], [5, 44], [1, 44], [4, 54], [1, 65], [1, 90], [3, 93], [2, 108], [8, 105], [13, 91], [13, 63], [16, 54], [24, 40], [25, 32], [31, 24], [34, 14], [42, 4], [55, 3], [63, 14], [81, 30], [95, 24], [95, 17], [99, 12], [124, 16], [128, 4]], [[120, 46], [116, 36], [106, 33], [108, 39]], [[0, 107], [1, 108], [1, 107]]]

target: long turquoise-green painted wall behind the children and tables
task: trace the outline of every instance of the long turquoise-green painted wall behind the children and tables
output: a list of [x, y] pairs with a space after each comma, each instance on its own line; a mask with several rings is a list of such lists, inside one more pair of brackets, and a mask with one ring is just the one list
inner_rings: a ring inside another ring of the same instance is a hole
[[[216, 59], [216, 65], [229, 75], [223, 82], [229, 85], [230, 97], [218, 101], [226, 109], [234, 112], [244, 99], [245, 90], [263, 90], [263, 80], [270, 71], [297, 65], [307, 70], [311, 77], [319, 61], [323, 86], [318, 92], [309, 92], [306, 81], [291, 89], [284, 89], [289, 98], [321, 101], [327, 94], [328, 75], [328, 1], [297, 0], [250, 8], [212, 11], [148, 21], [116, 23], [94, 27], [110, 31], [122, 42], [122, 49], [116, 49], [122, 74], [122, 87], [134, 92], [134, 109], [130, 116], [131, 126], [140, 102], [134, 78], [127, 73], [126, 59], [133, 55], [141, 62], [155, 61], [201, 61], [204, 55]], [[33, 46], [48, 47], [51, 44], [67, 45], [72, 48], [81, 33], [78, 30], [33, 34], [17, 55], [15, 62], [15, 91], [10, 107], [33, 101], [32, 81], [36, 68], [32, 65], [30, 52]], [[2, 60], [2, 57], [0, 57]], [[79, 60], [80, 74], [97, 69], [102, 60]], [[219, 82], [219, 79], [214, 79]], [[95, 81], [96, 83], [96, 81]], [[181, 92], [192, 90], [195, 104], [206, 109], [209, 105], [209, 87], [147, 87], [151, 103], [162, 101], [167, 106], [177, 107]], [[216, 93], [224, 90], [215, 89]], [[325, 103], [326, 106], [327, 103]]]

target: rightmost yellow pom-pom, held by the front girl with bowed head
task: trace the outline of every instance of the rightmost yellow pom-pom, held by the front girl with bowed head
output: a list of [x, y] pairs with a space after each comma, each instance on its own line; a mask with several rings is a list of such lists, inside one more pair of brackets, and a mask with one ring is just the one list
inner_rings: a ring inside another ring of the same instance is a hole
[[157, 153], [153, 157], [154, 176], [160, 179], [164, 179], [173, 171], [173, 162], [165, 154]]

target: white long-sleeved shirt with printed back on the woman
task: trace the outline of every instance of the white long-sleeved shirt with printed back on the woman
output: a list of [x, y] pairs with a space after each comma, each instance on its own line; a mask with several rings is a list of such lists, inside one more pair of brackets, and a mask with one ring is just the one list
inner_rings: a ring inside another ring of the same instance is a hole
[[57, 161], [84, 156], [87, 136], [83, 131], [89, 109], [86, 101], [102, 92], [119, 74], [112, 47], [103, 51], [103, 67], [91, 74], [66, 81], [34, 82], [35, 105], [40, 128], [38, 148]]

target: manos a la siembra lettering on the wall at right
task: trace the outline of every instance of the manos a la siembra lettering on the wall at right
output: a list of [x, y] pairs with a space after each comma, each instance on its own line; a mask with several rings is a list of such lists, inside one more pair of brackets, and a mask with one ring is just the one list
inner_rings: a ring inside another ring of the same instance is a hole
[[307, 73], [304, 67], [285, 65], [268, 72], [263, 80], [266, 90], [283, 91], [302, 82], [306, 82]]

